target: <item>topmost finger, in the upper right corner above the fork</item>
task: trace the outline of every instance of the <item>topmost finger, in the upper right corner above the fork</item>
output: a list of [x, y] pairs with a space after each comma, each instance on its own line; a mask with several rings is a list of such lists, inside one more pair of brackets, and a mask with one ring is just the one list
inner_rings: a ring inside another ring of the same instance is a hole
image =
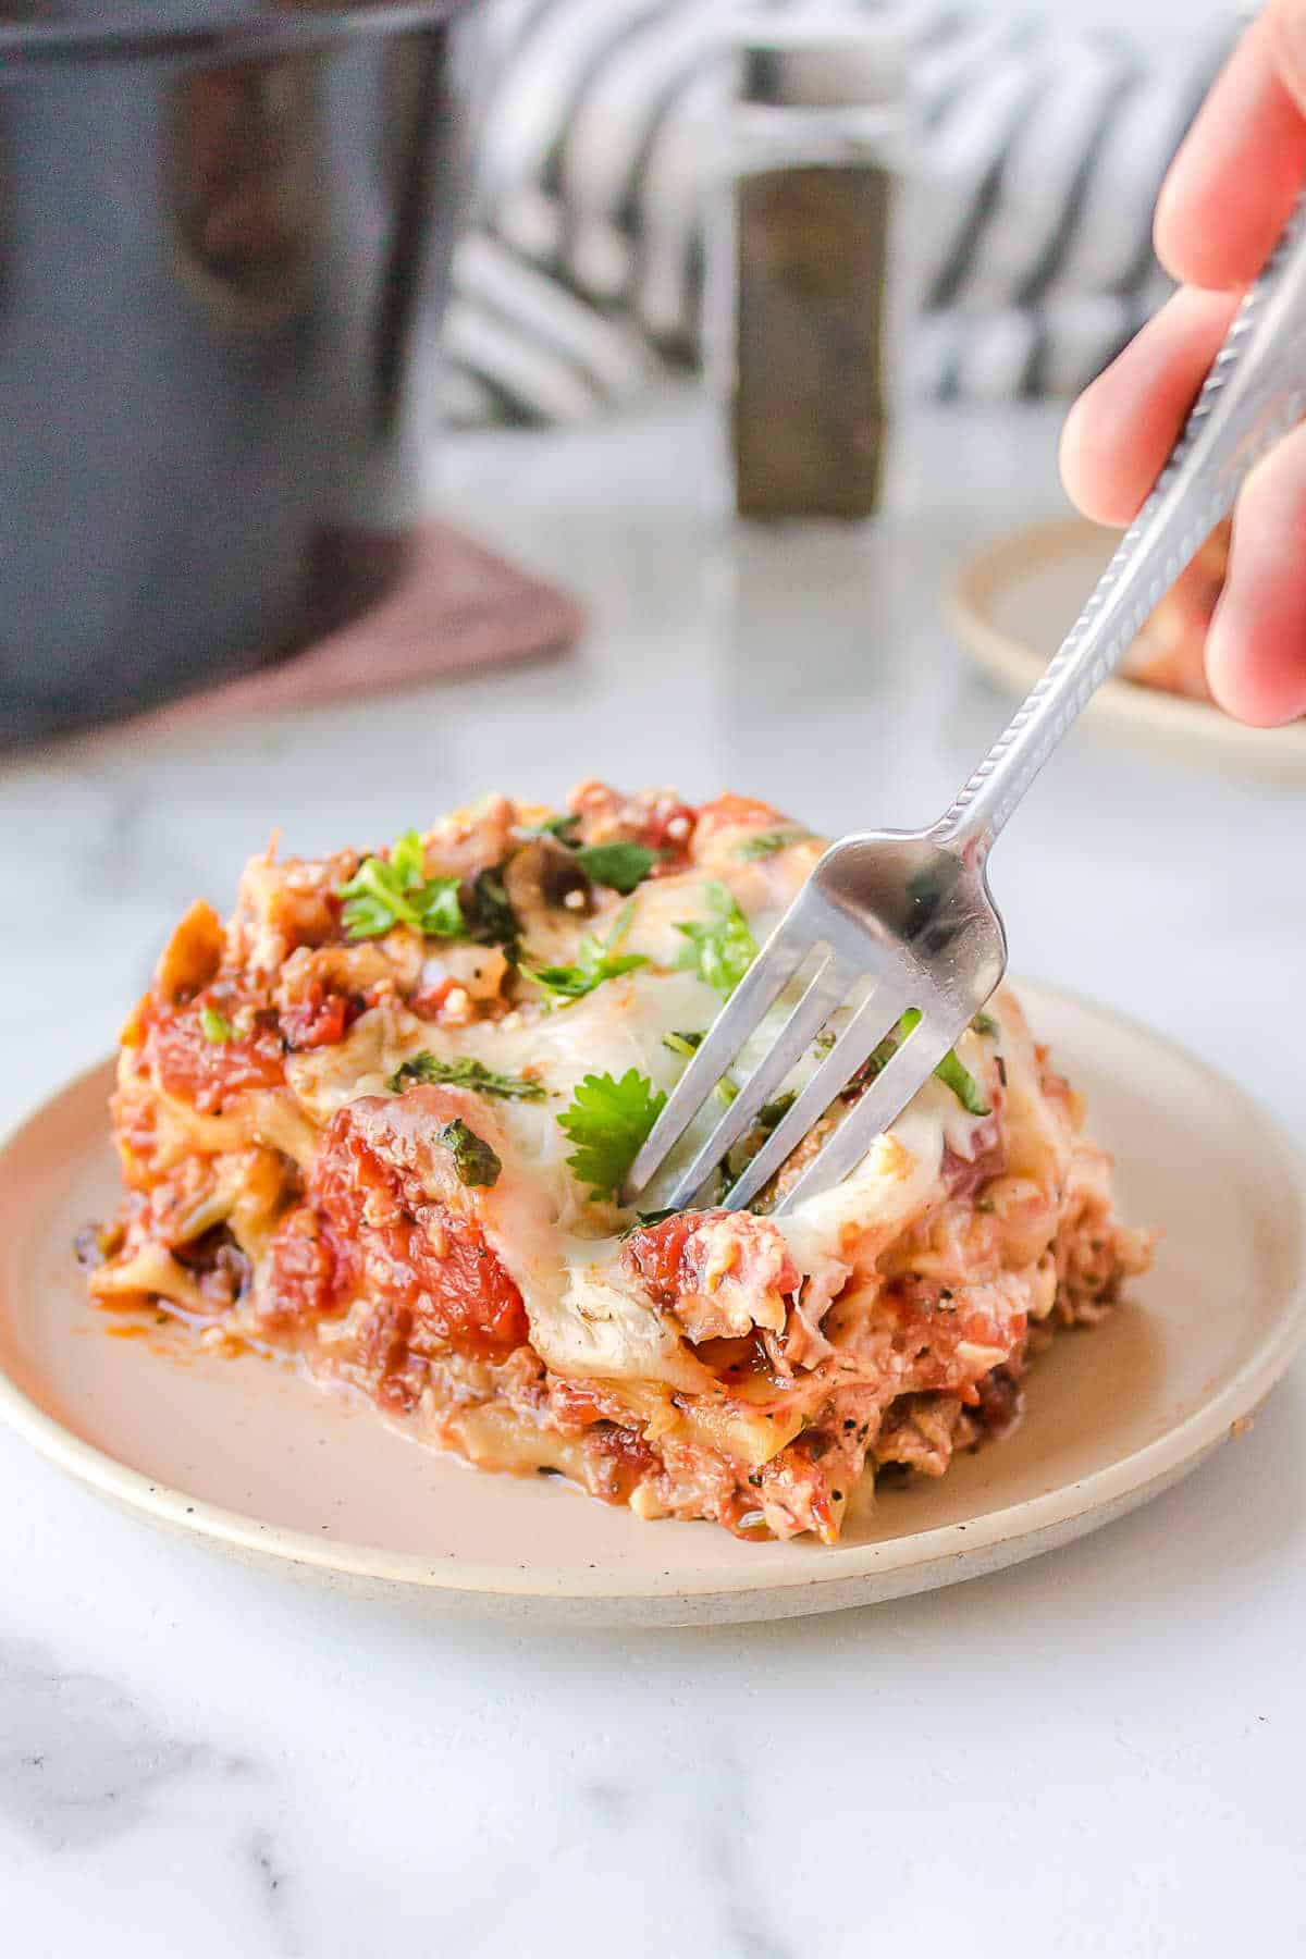
[[1273, 0], [1216, 78], [1161, 186], [1155, 247], [1173, 278], [1249, 286], [1306, 178], [1306, 6]]

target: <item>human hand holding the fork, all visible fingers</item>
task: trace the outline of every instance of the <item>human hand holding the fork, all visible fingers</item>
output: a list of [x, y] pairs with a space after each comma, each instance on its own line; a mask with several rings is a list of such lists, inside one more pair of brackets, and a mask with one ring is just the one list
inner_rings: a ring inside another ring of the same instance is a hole
[[[1161, 188], [1155, 247], [1179, 292], [1075, 402], [1065, 488], [1126, 525], [1306, 180], [1306, 0], [1269, 0], [1216, 78]], [[1306, 425], [1249, 474], [1206, 678], [1239, 721], [1306, 713]]]

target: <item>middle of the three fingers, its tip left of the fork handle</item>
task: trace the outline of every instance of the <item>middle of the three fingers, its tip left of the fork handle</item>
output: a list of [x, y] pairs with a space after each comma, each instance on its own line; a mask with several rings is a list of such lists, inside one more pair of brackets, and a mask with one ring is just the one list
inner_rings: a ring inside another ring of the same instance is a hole
[[1138, 515], [1236, 310], [1237, 294], [1177, 292], [1079, 396], [1061, 431], [1061, 482], [1087, 517]]

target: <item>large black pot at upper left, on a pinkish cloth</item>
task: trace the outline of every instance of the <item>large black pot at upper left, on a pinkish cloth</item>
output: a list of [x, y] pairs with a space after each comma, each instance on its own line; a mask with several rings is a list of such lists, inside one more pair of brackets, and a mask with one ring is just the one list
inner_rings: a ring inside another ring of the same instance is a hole
[[321, 564], [376, 596], [472, 12], [0, 0], [0, 739], [274, 656]]

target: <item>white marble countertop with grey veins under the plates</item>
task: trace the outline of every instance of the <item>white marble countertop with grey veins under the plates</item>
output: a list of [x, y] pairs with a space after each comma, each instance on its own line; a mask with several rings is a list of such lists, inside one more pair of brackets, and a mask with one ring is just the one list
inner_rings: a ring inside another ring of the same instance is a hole
[[[873, 531], [705, 515], [679, 400], [466, 439], [444, 505], [593, 609], [570, 658], [0, 770], [8, 1121], [104, 1050], [166, 923], [499, 784], [928, 819], [1004, 703], [963, 549], [1061, 507], [1055, 417], [932, 411]], [[997, 862], [1014, 964], [1151, 1019], [1306, 1138], [1306, 791], [1077, 733]], [[1306, 1934], [1306, 1373], [1120, 1524], [736, 1632], [476, 1628], [153, 1534], [0, 1434], [0, 1949], [16, 1959], [1228, 1955]]]

